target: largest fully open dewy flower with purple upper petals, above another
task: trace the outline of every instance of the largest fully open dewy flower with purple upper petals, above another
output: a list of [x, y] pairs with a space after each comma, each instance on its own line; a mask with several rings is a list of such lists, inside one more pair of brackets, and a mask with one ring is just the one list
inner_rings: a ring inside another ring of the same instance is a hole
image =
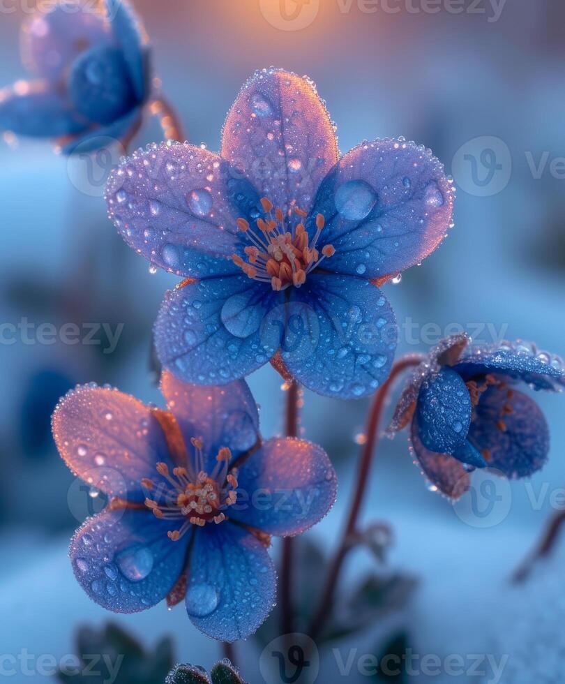
[[402, 138], [340, 156], [314, 84], [271, 68], [243, 86], [220, 155], [153, 144], [114, 171], [107, 204], [130, 246], [186, 278], [156, 323], [166, 369], [225, 384], [280, 350], [303, 385], [348, 398], [389, 374], [398, 330], [378, 283], [444, 239], [453, 187]]

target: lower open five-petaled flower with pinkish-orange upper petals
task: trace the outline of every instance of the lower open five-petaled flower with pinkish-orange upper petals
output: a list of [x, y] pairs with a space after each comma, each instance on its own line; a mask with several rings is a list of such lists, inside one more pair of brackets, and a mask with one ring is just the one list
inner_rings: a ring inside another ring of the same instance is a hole
[[197, 387], [165, 372], [161, 390], [167, 410], [86, 385], [54, 412], [61, 456], [110, 500], [73, 537], [73, 570], [107, 609], [184, 598], [209, 637], [245, 639], [275, 601], [270, 535], [297, 535], [322, 519], [336, 473], [309, 442], [262, 443], [243, 380]]

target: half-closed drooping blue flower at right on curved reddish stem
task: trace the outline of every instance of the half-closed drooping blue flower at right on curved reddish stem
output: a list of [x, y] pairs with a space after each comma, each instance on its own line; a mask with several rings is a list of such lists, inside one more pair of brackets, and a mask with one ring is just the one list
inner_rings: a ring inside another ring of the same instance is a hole
[[549, 429], [535, 401], [515, 389], [565, 386], [562, 359], [522, 341], [468, 346], [465, 335], [443, 340], [409, 378], [389, 435], [412, 424], [410, 440], [423, 474], [452, 499], [469, 472], [492, 468], [517, 478], [540, 470]]

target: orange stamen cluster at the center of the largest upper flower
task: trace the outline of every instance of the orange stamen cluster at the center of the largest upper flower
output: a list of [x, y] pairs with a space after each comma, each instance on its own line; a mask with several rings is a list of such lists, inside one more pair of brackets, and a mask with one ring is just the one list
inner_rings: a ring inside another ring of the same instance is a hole
[[[336, 249], [331, 244], [322, 248], [322, 255], [316, 248], [317, 241], [326, 223], [323, 214], [316, 216], [316, 233], [310, 242], [303, 221], [306, 211], [294, 207], [296, 223], [292, 223], [292, 212], [287, 220], [282, 209], [274, 209], [273, 203], [264, 197], [261, 205], [266, 218], [257, 218], [257, 229], [245, 218], [237, 219], [237, 227], [250, 244], [243, 250], [244, 261], [239, 255], [232, 255], [236, 266], [253, 280], [270, 283], [273, 290], [280, 292], [289, 285], [299, 288], [306, 282], [306, 276], [319, 266], [324, 258], [331, 257]], [[292, 225], [291, 225], [292, 224]]]

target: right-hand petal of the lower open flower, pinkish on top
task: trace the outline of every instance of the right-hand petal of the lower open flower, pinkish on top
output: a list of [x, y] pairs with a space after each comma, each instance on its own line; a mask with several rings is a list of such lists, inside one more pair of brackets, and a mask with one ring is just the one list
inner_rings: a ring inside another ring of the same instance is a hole
[[336, 500], [338, 480], [321, 447], [273, 439], [243, 461], [229, 518], [278, 537], [306, 532]]

